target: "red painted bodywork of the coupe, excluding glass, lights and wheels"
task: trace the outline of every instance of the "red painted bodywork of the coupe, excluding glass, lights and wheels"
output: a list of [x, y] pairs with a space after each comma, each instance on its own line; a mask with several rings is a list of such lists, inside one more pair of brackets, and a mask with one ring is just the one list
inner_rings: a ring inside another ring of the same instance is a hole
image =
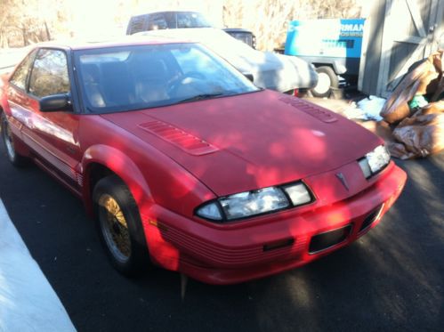
[[[209, 283], [286, 271], [351, 243], [368, 231], [359, 233], [365, 216], [381, 204], [385, 213], [407, 179], [391, 163], [366, 180], [357, 159], [382, 141], [327, 109], [280, 93], [107, 115], [42, 113], [35, 98], [7, 82], [0, 93], [21, 154], [76, 192], [89, 212], [91, 169], [108, 167], [133, 193], [152, 260]], [[316, 198], [308, 206], [225, 225], [194, 215], [218, 196], [298, 180]], [[348, 224], [351, 235], [343, 243], [308, 253], [312, 236]], [[294, 243], [263, 250], [286, 239]]]

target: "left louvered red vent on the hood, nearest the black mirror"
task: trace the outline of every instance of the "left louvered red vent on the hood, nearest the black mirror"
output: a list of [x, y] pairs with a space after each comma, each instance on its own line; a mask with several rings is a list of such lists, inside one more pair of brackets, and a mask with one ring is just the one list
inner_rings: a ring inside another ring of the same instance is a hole
[[202, 156], [218, 150], [210, 143], [163, 121], [153, 120], [139, 127], [193, 156]]

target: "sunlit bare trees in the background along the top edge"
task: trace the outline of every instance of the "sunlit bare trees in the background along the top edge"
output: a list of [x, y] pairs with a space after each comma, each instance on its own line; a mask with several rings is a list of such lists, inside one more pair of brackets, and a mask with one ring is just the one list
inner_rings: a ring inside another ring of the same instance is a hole
[[[1, 0], [0, 47], [22, 46], [57, 36], [74, 36], [76, 0]], [[272, 50], [285, 41], [287, 22], [297, 19], [349, 18], [359, 15], [357, 0], [206, 0], [204, 7], [218, 12], [223, 5], [223, 23], [230, 28], [248, 28], [262, 50]], [[195, 1], [197, 3], [197, 0]], [[164, 0], [162, 4], [141, 0], [109, 0], [109, 17], [98, 13], [97, 20], [124, 27], [131, 13], [170, 6], [189, 6], [190, 0]], [[216, 5], [217, 4], [217, 5]], [[86, 9], [87, 10], [87, 9]], [[94, 27], [92, 27], [93, 29]], [[86, 29], [86, 31], [88, 31]], [[92, 33], [94, 31], [92, 30]]]

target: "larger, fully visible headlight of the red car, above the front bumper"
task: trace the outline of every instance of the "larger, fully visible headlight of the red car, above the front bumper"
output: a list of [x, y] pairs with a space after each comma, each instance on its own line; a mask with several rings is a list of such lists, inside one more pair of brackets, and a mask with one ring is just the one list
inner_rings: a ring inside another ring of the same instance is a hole
[[199, 206], [196, 215], [218, 222], [232, 221], [301, 206], [311, 201], [311, 193], [305, 184], [296, 182], [218, 198]]

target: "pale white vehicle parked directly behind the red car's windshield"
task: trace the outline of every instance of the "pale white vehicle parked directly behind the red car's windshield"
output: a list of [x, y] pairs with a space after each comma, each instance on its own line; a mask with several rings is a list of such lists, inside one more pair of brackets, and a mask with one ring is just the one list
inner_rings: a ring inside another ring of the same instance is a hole
[[174, 28], [145, 31], [141, 35], [175, 37], [206, 45], [239, 71], [253, 74], [254, 84], [262, 88], [287, 92], [311, 88], [318, 82], [316, 70], [307, 61], [254, 50], [218, 28]]

